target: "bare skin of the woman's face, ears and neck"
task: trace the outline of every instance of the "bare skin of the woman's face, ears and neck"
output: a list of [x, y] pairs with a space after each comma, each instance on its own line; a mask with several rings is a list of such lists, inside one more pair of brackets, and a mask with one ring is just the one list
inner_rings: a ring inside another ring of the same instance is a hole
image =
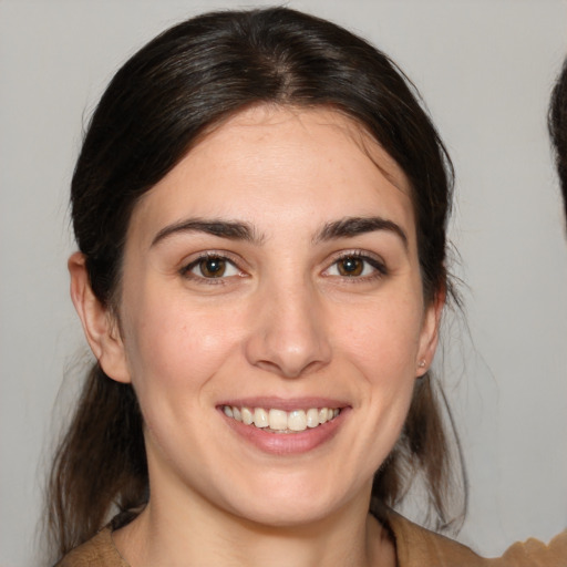
[[[394, 565], [368, 515], [372, 476], [433, 358], [442, 307], [424, 305], [409, 195], [349, 118], [260, 106], [212, 131], [135, 206], [120, 322], [71, 257], [91, 348], [132, 382], [145, 421], [151, 501], [114, 533], [131, 565]], [[330, 235], [353, 217], [386, 223]], [[237, 221], [248, 238], [179, 228], [195, 219]], [[227, 259], [224, 277], [205, 277], [205, 252]], [[360, 275], [344, 275], [344, 257]], [[342, 413], [316, 446], [297, 451], [289, 435], [274, 453], [219, 409], [252, 398], [332, 400]]]

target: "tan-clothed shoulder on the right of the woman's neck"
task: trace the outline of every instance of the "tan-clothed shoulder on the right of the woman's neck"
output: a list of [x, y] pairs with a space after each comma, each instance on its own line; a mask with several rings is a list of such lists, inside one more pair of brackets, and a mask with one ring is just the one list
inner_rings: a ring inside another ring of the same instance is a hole
[[499, 558], [483, 558], [458, 542], [430, 532], [395, 513], [386, 523], [395, 538], [399, 567], [567, 567], [567, 529], [549, 545], [528, 539]]

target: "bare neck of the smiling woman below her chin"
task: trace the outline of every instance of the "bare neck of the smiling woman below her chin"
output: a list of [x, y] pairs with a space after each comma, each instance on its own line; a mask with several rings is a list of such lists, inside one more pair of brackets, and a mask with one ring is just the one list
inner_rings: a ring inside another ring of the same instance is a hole
[[364, 493], [324, 518], [266, 526], [198, 497], [182, 505], [153, 494], [144, 512], [114, 533], [114, 540], [131, 567], [395, 565], [388, 530], [367, 511]]

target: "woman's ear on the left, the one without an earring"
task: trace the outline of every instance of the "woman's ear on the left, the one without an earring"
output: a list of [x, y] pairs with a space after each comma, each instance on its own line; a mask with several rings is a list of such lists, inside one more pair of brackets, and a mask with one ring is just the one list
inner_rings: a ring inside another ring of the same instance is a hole
[[73, 254], [69, 258], [68, 267], [71, 275], [71, 299], [93, 354], [107, 377], [117, 382], [130, 382], [118, 321], [93, 293], [84, 255]]

